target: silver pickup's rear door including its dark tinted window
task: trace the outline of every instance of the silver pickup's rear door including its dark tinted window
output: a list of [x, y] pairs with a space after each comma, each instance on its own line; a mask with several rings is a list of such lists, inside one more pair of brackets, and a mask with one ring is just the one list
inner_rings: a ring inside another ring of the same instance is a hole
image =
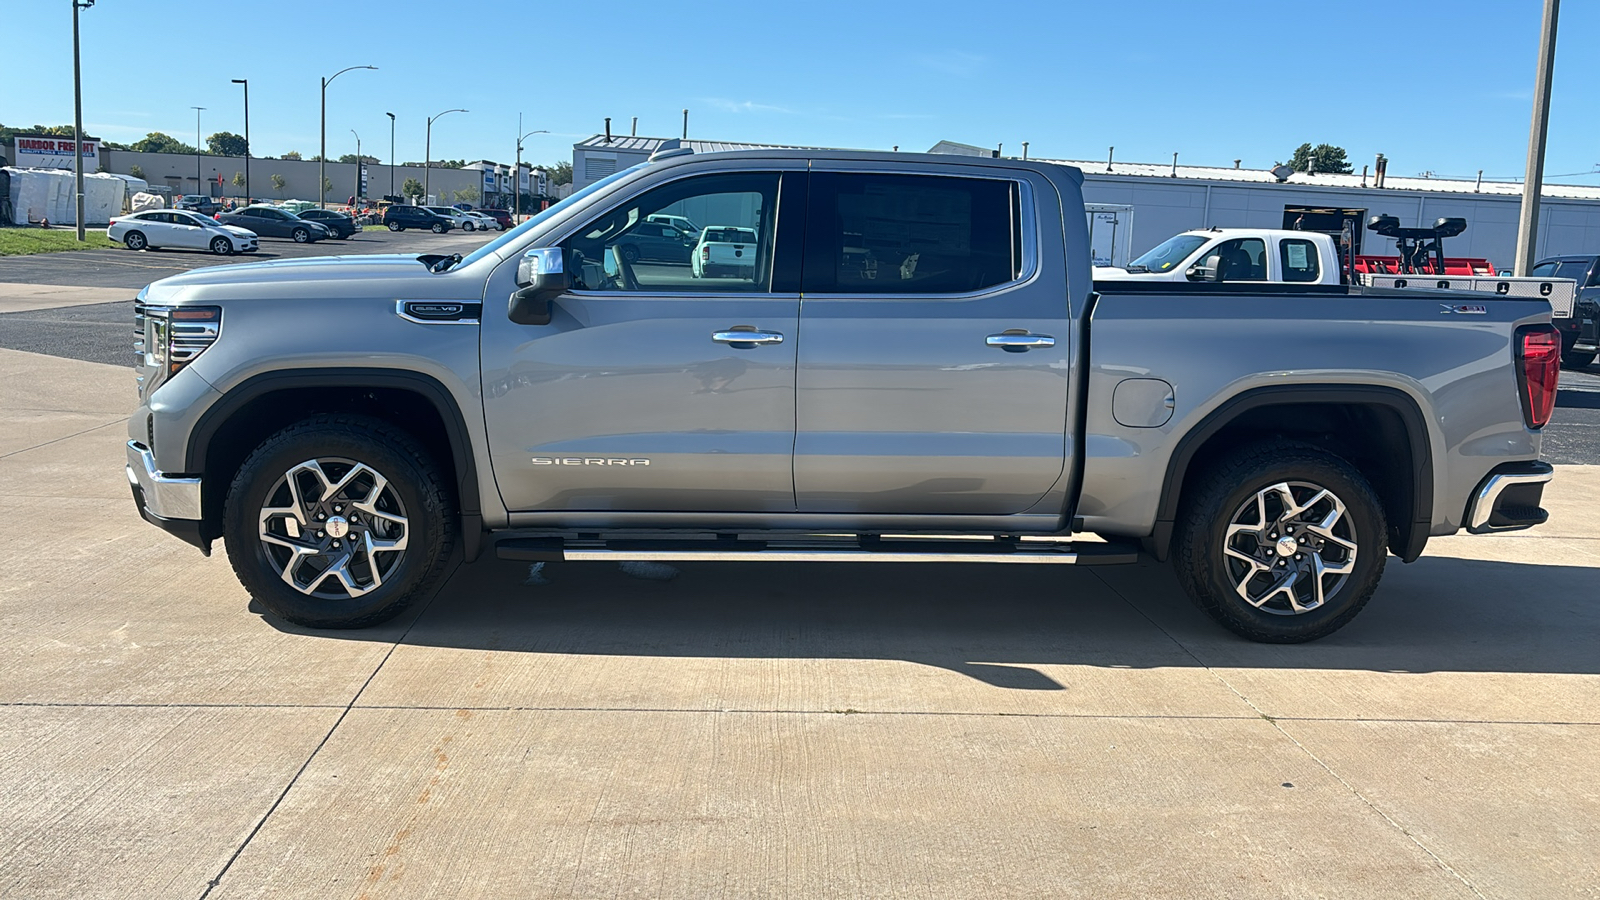
[[834, 165], [813, 168], [806, 216], [800, 511], [1029, 509], [1066, 458], [1066, 272], [1037, 250], [1054, 191], [1024, 170]]

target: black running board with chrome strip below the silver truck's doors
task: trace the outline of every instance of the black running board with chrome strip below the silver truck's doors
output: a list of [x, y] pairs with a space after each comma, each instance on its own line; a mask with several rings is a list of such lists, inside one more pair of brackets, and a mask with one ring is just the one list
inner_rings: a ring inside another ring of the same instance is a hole
[[1011, 562], [1054, 565], [1125, 565], [1138, 544], [1101, 541], [1024, 541], [1008, 538], [818, 538], [818, 540], [565, 540], [502, 538], [501, 559], [520, 562]]

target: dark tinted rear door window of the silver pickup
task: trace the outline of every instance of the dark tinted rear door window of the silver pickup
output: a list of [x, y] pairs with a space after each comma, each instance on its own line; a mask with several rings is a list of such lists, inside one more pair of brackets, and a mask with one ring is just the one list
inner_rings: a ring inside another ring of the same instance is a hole
[[1018, 197], [1008, 179], [813, 171], [802, 290], [949, 295], [1013, 282]]

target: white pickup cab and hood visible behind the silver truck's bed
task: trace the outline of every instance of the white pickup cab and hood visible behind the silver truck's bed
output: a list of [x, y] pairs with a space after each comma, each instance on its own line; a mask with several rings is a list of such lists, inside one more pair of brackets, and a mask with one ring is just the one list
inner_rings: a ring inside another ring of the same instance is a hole
[[1096, 266], [1094, 280], [1338, 285], [1339, 253], [1315, 231], [1211, 227], [1176, 234], [1126, 267]]

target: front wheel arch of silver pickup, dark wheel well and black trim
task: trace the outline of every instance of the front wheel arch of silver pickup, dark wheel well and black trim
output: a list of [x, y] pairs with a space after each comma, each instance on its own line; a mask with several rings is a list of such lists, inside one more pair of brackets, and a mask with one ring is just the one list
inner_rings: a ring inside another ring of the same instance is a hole
[[202, 490], [202, 538], [222, 536], [222, 504], [245, 458], [294, 421], [357, 412], [403, 428], [448, 466], [467, 560], [482, 549], [477, 460], [461, 405], [437, 378], [392, 368], [298, 368], [246, 378], [206, 408], [189, 432], [187, 468], [216, 485]]

